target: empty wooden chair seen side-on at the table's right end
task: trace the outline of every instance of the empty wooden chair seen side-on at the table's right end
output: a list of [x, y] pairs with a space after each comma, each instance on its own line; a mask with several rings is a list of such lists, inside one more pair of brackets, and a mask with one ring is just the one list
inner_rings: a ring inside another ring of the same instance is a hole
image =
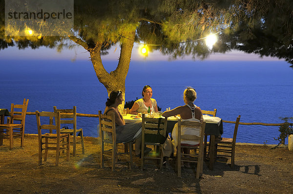
[[215, 156], [231, 157], [231, 168], [234, 168], [235, 144], [239, 122], [240, 115], [235, 122], [233, 138], [222, 137], [220, 140], [215, 140]]

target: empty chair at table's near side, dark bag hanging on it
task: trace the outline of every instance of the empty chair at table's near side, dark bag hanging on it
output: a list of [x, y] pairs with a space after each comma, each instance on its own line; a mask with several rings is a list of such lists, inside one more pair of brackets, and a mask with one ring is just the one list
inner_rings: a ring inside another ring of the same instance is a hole
[[[147, 118], [142, 114], [142, 150], [141, 150], [141, 170], [144, 170], [145, 159], [156, 159], [160, 161], [160, 169], [163, 167], [163, 152], [161, 144], [164, 143], [164, 137], [167, 132], [167, 117], [163, 118]], [[153, 136], [153, 138], [148, 137]], [[163, 139], [163, 140], [161, 140]], [[166, 140], [166, 138], [165, 138]], [[160, 142], [161, 141], [161, 142]], [[158, 153], [149, 153], [145, 155], [146, 145], [159, 147]]]

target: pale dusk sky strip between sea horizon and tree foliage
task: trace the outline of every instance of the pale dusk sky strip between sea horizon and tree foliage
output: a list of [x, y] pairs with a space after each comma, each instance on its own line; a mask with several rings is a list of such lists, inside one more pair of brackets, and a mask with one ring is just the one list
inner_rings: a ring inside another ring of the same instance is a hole
[[[117, 48], [117, 49], [116, 49]], [[134, 44], [132, 50], [132, 61], [167, 61], [169, 56], [162, 55], [159, 51], [149, 53], [147, 58], [142, 57], [139, 54], [139, 45]], [[116, 51], [115, 51], [116, 49]], [[113, 46], [109, 51], [108, 55], [102, 56], [103, 60], [117, 60], [120, 55], [120, 46]], [[21, 49], [17, 47], [9, 47], [7, 49], [0, 51], [1, 59], [65, 59], [65, 60], [88, 60], [89, 53], [81, 46], [76, 46], [75, 48], [63, 49], [62, 52], [58, 52], [56, 49], [50, 49], [46, 47], [40, 47], [39, 49]], [[192, 60], [191, 56], [186, 56], [184, 58], [177, 58], [177, 60]], [[246, 54], [240, 51], [231, 51], [226, 54], [212, 54], [205, 60], [221, 60], [221, 61], [279, 61], [278, 58], [270, 57], [259, 57], [259, 55]]]

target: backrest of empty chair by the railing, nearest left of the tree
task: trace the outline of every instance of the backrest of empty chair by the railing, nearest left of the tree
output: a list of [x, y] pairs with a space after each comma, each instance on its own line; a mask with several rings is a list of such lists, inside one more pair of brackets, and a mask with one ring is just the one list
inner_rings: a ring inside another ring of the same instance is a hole
[[73, 124], [73, 129], [76, 129], [76, 106], [73, 106], [73, 109], [57, 109], [53, 106], [53, 109], [54, 113], [60, 112], [61, 124]]

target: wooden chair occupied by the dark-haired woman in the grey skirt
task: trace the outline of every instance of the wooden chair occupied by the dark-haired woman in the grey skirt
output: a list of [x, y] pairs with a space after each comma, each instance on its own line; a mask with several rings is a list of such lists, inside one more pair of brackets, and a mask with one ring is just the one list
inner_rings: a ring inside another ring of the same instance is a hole
[[[116, 126], [115, 126], [115, 115], [103, 115], [102, 111], [99, 111], [99, 121], [100, 129], [99, 135], [101, 138], [101, 168], [104, 168], [105, 160], [112, 160], [111, 171], [115, 171], [115, 166], [118, 163], [118, 155], [128, 155], [129, 156], [129, 169], [132, 169], [132, 145], [133, 142], [128, 142], [129, 152], [118, 152], [118, 144], [123, 143], [116, 141]], [[112, 140], [105, 136], [105, 133], [112, 134]], [[105, 150], [105, 143], [111, 144], [111, 149]], [[111, 153], [108, 154], [108, 153]], [[107, 158], [105, 158], [107, 157]], [[119, 162], [121, 163], [121, 162]]]

